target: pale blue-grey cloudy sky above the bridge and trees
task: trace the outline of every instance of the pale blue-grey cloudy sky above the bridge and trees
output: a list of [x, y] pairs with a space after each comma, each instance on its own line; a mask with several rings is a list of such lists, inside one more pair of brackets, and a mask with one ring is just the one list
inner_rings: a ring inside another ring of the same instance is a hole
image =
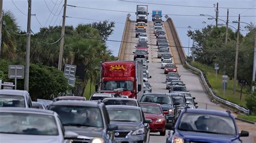
[[[129, 1], [129, 2], [125, 2]], [[136, 3], [134, 3], [136, 2]], [[192, 45], [192, 40], [190, 40], [190, 45], [188, 45], [187, 30], [188, 26], [191, 26], [191, 30], [201, 29], [206, 25], [215, 24], [214, 20], [207, 19], [208, 17], [199, 16], [201, 13], [205, 15], [215, 16], [214, 5], [219, 3], [219, 18], [226, 21], [227, 8], [229, 9], [229, 21], [231, 26], [237, 28], [237, 24], [233, 24], [232, 21], [238, 20], [238, 15], [240, 13], [241, 22], [254, 23], [256, 21], [256, 1], [255, 0], [222, 0], [222, 1], [212, 1], [212, 0], [68, 0], [68, 5], [80, 6], [83, 8], [73, 8], [67, 6], [66, 24], [76, 27], [78, 24], [87, 24], [92, 22], [99, 22], [98, 20], [109, 20], [116, 22], [116, 27], [114, 27], [114, 32], [110, 35], [109, 40], [122, 40], [124, 23], [126, 15], [131, 14], [131, 19], [136, 20], [136, 5], [143, 3], [154, 3], [146, 4], [148, 5], [149, 12], [152, 10], [162, 10], [164, 16], [169, 14], [169, 17], [173, 19], [174, 25], [177, 28], [179, 37], [184, 47]], [[62, 24], [63, 15], [63, 4], [64, 0], [32, 0], [31, 13], [31, 30], [35, 33], [39, 31], [40, 27], [56, 26]], [[159, 5], [161, 4], [161, 5]], [[166, 4], [166, 5], [163, 5]], [[184, 6], [174, 6], [174, 5], [186, 5]], [[207, 6], [211, 8], [199, 8], [191, 6]], [[93, 9], [87, 9], [93, 8]], [[245, 8], [245, 9], [234, 9], [234, 8]], [[246, 9], [247, 8], [247, 9]], [[249, 9], [248, 9], [249, 8]], [[3, 0], [3, 9], [11, 10], [16, 19], [21, 30], [26, 31], [27, 25], [27, 13], [28, 13], [28, 0]], [[117, 10], [117, 11], [104, 11], [95, 9], [107, 9], [107, 10]], [[185, 15], [185, 16], [175, 16], [175, 15]], [[193, 15], [193, 16], [186, 16]], [[254, 17], [248, 17], [254, 16]], [[76, 18], [70, 18], [76, 17]], [[82, 19], [81, 19], [82, 18]], [[94, 19], [94, 20], [89, 20]], [[151, 15], [149, 19], [152, 19]], [[163, 17], [163, 20], [166, 20]], [[206, 22], [206, 24], [202, 22]], [[219, 23], [223, 23], [219, 20]], [[241, 24], [241, 33], [245, 35], [248, 31], [245, 30], [246, 24]], [[233, 31], [234, 28], [232, 28]], [[118, 56], [118, 51], [120, 47], [120, 42], [107, 41], [107, 46], [113, 51], [114, 56]], [[187, 52], [187, 48], [185, 49]]]

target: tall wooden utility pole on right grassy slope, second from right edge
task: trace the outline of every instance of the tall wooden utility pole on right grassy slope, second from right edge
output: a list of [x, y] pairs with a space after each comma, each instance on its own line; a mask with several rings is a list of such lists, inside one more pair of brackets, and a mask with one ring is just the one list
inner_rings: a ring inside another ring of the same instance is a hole
[[235, 48], [235, 70], [234, 70], [234, 83], [233, 83], [233, 95], [237, 88], [237, 63], [238, 63], [238, 47], [239, 47], [239, 32], [240, 32], [240, 14], [238, 17], [238, 28], [237, 28], [237, 48]]

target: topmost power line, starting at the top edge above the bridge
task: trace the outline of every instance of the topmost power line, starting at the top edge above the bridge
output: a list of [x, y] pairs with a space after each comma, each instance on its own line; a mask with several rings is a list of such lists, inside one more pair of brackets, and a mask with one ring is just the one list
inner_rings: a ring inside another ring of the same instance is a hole
[[[189, 8], [212, 8], [215, 9], [212, 6], [196, 6], [196, 5], [177, 5], [177, 4], [160, 4], [160, 3], [148, 3], [148, 2], [134, 2], [134, 1], [125, 1], [120, 0], [122, 2], [129, 2], [129, 3], [142, 3], [142, 4], [154, 4], [154, 5], [165, 5], [165, 6], [181, 6], [181, 7], [189, 7]], [[255, 5], [254, 5], [255, 6]], [[253, 7], [254, 7], [253, 6]], [[228, 7], [219, 7], [219, 9], [252, 9], [255, 10], [255, 8], [228, 8]]]

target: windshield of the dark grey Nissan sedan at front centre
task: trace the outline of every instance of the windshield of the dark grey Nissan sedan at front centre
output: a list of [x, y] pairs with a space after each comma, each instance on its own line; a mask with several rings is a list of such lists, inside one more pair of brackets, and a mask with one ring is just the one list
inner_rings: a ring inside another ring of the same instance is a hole
[[111, 121], [142, 121], [140, 110], [136, 109], [107, 109]]

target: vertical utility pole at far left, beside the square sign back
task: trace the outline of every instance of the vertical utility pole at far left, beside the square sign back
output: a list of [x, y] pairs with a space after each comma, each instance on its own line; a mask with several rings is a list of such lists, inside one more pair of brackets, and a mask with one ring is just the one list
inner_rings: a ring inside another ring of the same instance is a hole
[[29, 62], [30, 62], [30, 24], [31, 24], [31, 1], [28, 0], [28, 25], [26, 28], [26, 65], [24, 90], [29, 91]]

